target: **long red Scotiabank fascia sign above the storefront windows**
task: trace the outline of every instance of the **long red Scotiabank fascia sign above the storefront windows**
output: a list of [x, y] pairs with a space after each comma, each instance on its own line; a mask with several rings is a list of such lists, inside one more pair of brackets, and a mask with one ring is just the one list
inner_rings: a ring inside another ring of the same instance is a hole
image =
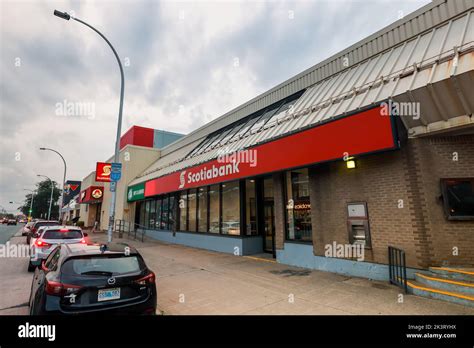
[[146, 182], [145, 197], [320, 162], [395, 149], [393, 119], [381, 107], [324, 123]]

